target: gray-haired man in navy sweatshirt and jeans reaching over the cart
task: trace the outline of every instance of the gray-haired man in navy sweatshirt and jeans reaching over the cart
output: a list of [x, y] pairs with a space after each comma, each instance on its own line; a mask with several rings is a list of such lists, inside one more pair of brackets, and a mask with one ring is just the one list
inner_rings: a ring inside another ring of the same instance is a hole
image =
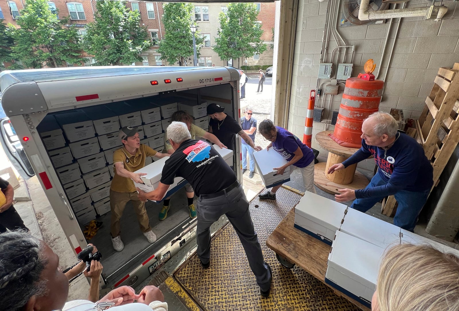
[[385, 112], [375, 112], [362, 124], [362, 147], [328, 174], [375, 158], [378, 172], [365, 189], [341, 189], [337, 202], [354, 200], [351, 207], [365, 213], [385, 196], [398, 202], [394, 225], [413, 232], [418, 215], [433, 185], [433, 168], [424, 149], [414, 138], [397, 131], [397, 121]]

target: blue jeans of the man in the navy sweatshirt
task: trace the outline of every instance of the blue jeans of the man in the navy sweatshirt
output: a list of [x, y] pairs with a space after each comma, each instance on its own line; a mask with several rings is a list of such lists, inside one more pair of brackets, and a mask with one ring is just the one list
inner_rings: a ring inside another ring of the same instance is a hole
[[[371, 179], [365, 189], [377, 186], [386, 185], [379, 172]], [[413, 232], [414, 226], [418, 221], [419, 213], [424, 207], [425, 201], [429, 196], [430, 189], [424, 191], [408, 191], [400, 190], [394, 196], [398, 202], [397, 212], [394, 216], [394, 225], [402, 229]], [[368, 211], [376, 202], [381, 201], [384, 196], [372, 196], [362, 199], [355, 199], [351, 208], [356, 209], [362, 213]]]

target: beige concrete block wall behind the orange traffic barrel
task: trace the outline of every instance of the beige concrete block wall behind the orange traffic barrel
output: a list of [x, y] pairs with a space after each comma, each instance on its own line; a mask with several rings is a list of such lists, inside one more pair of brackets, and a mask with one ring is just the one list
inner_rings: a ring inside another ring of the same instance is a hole
[[[288, 129], [300, 137], [304, 131], [309, 92], [317, 87], [317, 73], [327, 17], [325, 15], [327, 5], [328, 0], [323, 2], [299, 0], [298, 4]], [[407, 7], [426, 5], [425, 1], [412, 0]], [[459, 62], [459, 18], [452, 18], [456, 2], [452, 0], [443, 1], [442, 5], [448, 6], [448, 13], [441, 21], [424, 21], [422, 17], [402, 19], [392, 62], [387, 72], [386, 89], [380, 105], [381, 110], [403, 109], [405, 118], [418, 118], [424, 108], [425, 98], [431, 91], [438, 68], [452, 67], [454, 62]], [[401, 8], [401, 5], [398, 5], [397, 8]], [[457, 16], [457, 13], [455, 15]], [[383, 79], [388, 67], [388, 52], [392, 47], [398, 19], [393, 21], [387, 42], [386, 56], [381, 64], [389, 21], [387, 20], [385, 24], [338, 27], [338, 31], [346, 40], [346, 44], [355, 44], [356, 46], [352, 61], [350, 53], [345, 57], [346, 63], [352, 62], [354, 64], [353, 76], [364, 72], [363, 65], [371, 58], [375, 60], [377, 65], [375, 75], [380, 71], [378, 79]], [[327, 55], [322, 62], [331, 62], [330, 53], [338, 45], [331, 34], [330, 37]], [[334, 58], [336, 59], [336, 51]], [[342, 62], [341, 60], [342, 54], [340, 55], [340, 62]], [[324, 81], [326, 80], [320, 79], [319, 85]], [[340, 85], [338, 95], [332, 98], [330, 95], [320, 98], [319, 105], [326, 108], [325, 119], [331, 120], [332, 111], [339, 108], [343, 90], [344, 86]], [[334, 126], [329, 124], [314, 123], [313, 136], [319, 131], [332, 131], [333, 128]], [[313, 147], [318, 147], [314, 139]], [[327, 153], [321, 152], [321, 155], [326, 156]], [[368, 161], [374, 163], [373, 160]]]

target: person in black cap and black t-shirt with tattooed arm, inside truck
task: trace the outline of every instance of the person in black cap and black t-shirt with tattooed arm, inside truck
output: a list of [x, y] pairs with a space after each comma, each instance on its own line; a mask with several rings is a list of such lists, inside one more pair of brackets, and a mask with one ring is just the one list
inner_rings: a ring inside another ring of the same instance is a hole
[[241, 125], [233, 119], [233, 117], [224, 113], [225, 107], [218, 104], [209, 104], [207, 106], [207, 115], [212, 118], [209, 121], [209, 132], [217, 136], [217, 138], [225, 146], [231, 150], [235, 150], [236, 137], [239, 134], [242, 139], [256, 151], [262, 150], [262, 147], [255, 146], [252, 138], [247, 135], [241, 128]]

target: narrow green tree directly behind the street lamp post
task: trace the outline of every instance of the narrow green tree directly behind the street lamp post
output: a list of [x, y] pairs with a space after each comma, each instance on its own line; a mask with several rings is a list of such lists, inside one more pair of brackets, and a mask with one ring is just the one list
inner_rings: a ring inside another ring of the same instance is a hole
[[[193, 57], [193, 34], [190, 26], [194, 19], [194, 5], [191, 3], [174, 3], [169, 2], [163, 6], [164, 15], [162, 23], [165, 28], [165, 35], [159, 41], [158, 52], [161, 53], [161, 59], [166, 60], [173, 65], [179, 60], [179, 65], [185, 65], [188, 57]], [[204, 39], [199, 37], [199, 31], [196, 37], [196, 53], [202, 48]]]

